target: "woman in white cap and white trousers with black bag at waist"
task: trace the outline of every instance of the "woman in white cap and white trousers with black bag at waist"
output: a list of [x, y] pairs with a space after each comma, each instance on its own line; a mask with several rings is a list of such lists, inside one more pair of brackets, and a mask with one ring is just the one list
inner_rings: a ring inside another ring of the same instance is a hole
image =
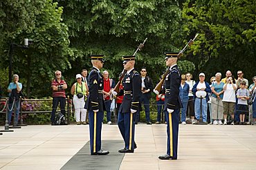
[[[75, 121], [77, 124], [86, 124], [86, 109], [84, 108], [86, 100], [86, 84], [82, 82], [82, 75], [77, 74], [76, 81], [71, 88], [71, 95], [73, 95], [73, 104], [75, 107]], [[80, 116], [81, 113], [81, 116]]]

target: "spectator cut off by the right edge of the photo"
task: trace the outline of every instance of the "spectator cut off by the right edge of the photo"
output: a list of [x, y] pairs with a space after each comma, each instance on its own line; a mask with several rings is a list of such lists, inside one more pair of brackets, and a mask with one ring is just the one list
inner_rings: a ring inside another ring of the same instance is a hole
[[250, 92], [250, 100], [252, 102], [251, 105], [253, 107], [252, 124], [255, 125], [256, 124], [256, 76], [253, 77], [253, 84], [250, 84], [249, 86], [249, 92]]

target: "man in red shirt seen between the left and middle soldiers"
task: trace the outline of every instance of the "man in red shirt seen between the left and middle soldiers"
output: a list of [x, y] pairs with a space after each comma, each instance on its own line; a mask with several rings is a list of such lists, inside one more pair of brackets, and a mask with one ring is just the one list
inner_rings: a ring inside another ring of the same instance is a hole
[[109, 72], [107, 70], [103, 71], [103, 81], [104, 81], [104, 89], [102, 91], [104, 95], [104, 105], [105, 109], [107, 111], [107, 124], [111, 124], [111, 111], [110, 111], [110, 106], [112, 102], [112, 90], [115, 88], [116, 84], [113, 81], [113, 79], [109, 79]]

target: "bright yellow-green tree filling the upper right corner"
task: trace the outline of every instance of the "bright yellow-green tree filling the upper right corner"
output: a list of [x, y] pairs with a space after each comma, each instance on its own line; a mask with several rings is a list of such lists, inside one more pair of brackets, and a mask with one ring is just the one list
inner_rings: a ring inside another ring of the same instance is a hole
[[[189, 35], [199, 32], [192, 50], [197, 71], [210, 77], [216, 72], [243, 70], [253, 77], [255, 68], [256, 2], [253, 0], [188, 0], [183, 4], [187, 20], [183, 30]], [[225, 74], [223, 74], [225, 75]]]

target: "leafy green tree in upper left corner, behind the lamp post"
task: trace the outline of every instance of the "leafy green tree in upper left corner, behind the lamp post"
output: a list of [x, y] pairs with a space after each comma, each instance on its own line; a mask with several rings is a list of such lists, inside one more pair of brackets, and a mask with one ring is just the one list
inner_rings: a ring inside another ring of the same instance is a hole
[[50, 95], [54, 71], [71, 67], [68, 59], [73, 53], [68, 48], [68, 28], [62, 23], [62, 9], [51, 0], [0, 2], [1, 67], [8, 66], [10, 43], [33, 39], [30, 48], [15, 48], [12, 60], [13, 73], [20, 75], [28, 95]]

